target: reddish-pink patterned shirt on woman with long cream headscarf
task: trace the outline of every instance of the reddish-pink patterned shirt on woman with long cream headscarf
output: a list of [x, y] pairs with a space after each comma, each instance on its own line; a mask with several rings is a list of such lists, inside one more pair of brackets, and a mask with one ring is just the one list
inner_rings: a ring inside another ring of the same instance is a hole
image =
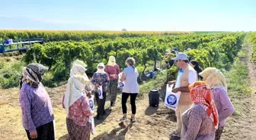
[[[62, 107], [64, 106], [64, 98], [62, 98]], [[88, 98], [85, 95], [82, 95], [74, 104], [69, 107], [69, 116], [68, 118], [73, 120], [79, 126], [87, 126], [89, 117], [93, 115], [93, 111], [90, 108], [88, 103]]]

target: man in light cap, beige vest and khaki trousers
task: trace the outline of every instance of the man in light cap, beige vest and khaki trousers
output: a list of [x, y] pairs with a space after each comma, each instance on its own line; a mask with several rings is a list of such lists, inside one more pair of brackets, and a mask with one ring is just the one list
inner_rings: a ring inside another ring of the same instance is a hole
[[177, 117], [177, 126], [175, 132], [171, 133], [171, 138], [181, 138], [181, 115], [190, 108], [193, 102], [190, 99], [190, 93], [188, 86], [190, 83], [197, 81], [197, 72], [188, 64], [187, 54], [179, 52], [176, 55], [176, 58], [173, 58], [177, 66], [180, 68], [178, 72], [177, 79], [171, 82], [168, 82], [169, 85], [175, 84], [172, 92], [177, 93], [181, 92], [180, 100], [178, 106], [175, 110]]

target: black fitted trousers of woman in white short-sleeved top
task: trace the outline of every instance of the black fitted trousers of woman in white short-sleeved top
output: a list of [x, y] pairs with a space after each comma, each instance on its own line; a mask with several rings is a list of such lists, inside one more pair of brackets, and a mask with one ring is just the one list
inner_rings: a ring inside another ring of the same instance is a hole
[[132, 106], [132, 114], [136, 114], [136, 97], [137, 93], [122, 93], [122, 109], [123, 114], [127, 114], [127, 107], [126, 107], [126, 101], [130, 96], [130, 104]]

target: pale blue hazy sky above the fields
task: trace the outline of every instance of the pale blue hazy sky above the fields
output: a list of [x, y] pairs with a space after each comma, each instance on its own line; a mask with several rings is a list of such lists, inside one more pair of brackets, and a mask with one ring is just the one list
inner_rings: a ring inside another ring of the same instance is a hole
[[256, 0], [0, 2], [6, 30], [256, 31]]

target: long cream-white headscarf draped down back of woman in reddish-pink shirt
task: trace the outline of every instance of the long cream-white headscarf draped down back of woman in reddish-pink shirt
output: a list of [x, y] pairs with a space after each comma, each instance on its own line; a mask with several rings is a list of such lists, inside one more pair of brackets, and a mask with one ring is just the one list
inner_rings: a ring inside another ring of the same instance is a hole
[[82, 92], [85, 90], [85, 85], [90, 81], [85, 70], [83, 65], [73, 64], [64, 98], [64, 106], [67, 115], [69, 115], [69, 107], [81, 98], [83, 95]]

